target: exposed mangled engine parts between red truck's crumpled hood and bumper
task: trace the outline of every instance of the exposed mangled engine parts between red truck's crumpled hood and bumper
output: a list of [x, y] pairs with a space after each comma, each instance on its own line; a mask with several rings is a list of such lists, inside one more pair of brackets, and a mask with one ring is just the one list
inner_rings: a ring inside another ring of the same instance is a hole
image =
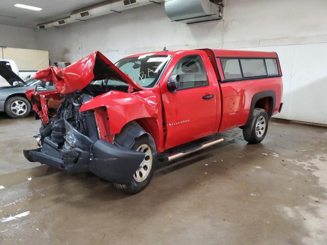
[[[60, 166], [62, 168], [76, 164], [78, 160], [79, 154], [74, 150], [78, 142], [72, 137], [72, 132], [77, 131], [81, 135], [89, 137], [89, 139], [84, 138], [83, 145], [81, 142], [79, 144], [83, 150], [89, 150], [90, 144], [99, 139], [94, 111], [79, 112], [82, 104], [90, 99], [92, 96], [83, 94], [82, 91], [65, 96], [56, 112], [51, 113], [54, 116], [49, 118], [47, 124], [42, 124], [40, 134], [35, 137], [39, 146], [44, 146], [46, 142], [50, 141], [56, 144], [59, 154], [63, 157], [63, 165]], [[49, 110], [54, 111], [55, 109], [49, 108]]]

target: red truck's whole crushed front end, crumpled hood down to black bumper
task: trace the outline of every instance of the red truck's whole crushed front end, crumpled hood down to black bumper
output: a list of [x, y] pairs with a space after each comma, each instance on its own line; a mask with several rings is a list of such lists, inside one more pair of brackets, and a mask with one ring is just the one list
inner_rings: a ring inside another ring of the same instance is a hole
[[[112, 89], [127, 94], [142, 87], [99, 52], [64, 69], [51, 66], [40, 70], [34, 78], [54, 81], [56, 91], [37, 92], [31, 89], [26, 92], [42, 125], [35, 136], [39, 148], [24, 150], [24, 156], [31, 162], [70, 173], [91, 171], [114, 183], [128, 183], [145, 153], [124, 149], [113, 142], [113, 135], [109, 136], [108, 131], [104, 134], [103, 128], [107, 127], [109, 120], [105, 106], [95, 103], [95, 108], [82, 112], [80, 109], [86, 102]], [[110, 88], [106, 84], [104, 88], [92, 85], [92, 81], [103, 79], [121, 81], [129, 86]], [[97, 119], [97, 115], [101, 118]]]

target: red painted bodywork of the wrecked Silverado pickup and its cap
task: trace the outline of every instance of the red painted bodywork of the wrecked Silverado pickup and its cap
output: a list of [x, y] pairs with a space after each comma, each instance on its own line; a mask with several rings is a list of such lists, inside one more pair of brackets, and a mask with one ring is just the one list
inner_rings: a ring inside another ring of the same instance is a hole
[[[159, 82], [153, 88], [141, 87], [99, 52], [92, 53], [65, 69], [52, 66], [39, 71], [35, 78], [54, 81], [61, 94], [68, 94], [83, 89], [92, 80], [108, 78], [108, 76], [101, 75], [101, 72], [100, 74], [95, 72], [100, 59], [107, 65], [106, 71], [109, 71], [111, 78], [129, 84], [129, 93], [120, 91], [104, 93], [84, 103], [80, 111], [95, 110], [100, 137], [109, 142], [112, 142], [114, 135], [119, 134], [128, 122], [136, 121], [153, 136], [158, 152], [207, 135], [244, 126], [249, 118], [252, 98], [256, 93], [273, 90], [276, 94], [273, 114], [278, 112], [283, 93], [281, 77], [221, 82], [224, 81], [224, 75], [219, 59], [219, 57], [277, 58], [279, 75], [282, 75], [276, 53], [191, 50], [152, 54], [172, 56]], [[188, 55], [201, 57], [209, 85], [171, 93], [167, 82], [178, 61]], [[140, 55], [128, 58], [136, 56]], [[45, 98], [58, 96], [58, 94], [43, 93]], [[202, 96], [207, 94], [213, 94], [213, 99], [202, 99]], [[42, 94], [28, 91], [27, 96], [32, 100], [33, 108], [40, 115], [43, 123], [46, 123], [49, 119], [47, 119], [46, 103], [42, 99], [44, 98]], [[39, 102], [41, 107], [36, 106], [35, 102]], [[271, 102], [267, 97], [259, 103], [268, 110]]]

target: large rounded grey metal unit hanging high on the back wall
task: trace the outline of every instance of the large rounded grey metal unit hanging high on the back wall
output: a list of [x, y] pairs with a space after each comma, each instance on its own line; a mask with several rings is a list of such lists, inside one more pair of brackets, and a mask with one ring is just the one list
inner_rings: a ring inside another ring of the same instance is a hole
[[[219, 3], [217, 3], [219, 2]], [[186, 24], [218, 20], [222, 18], [222, 1], [166, 0], [165, 10], [173, 21]]]

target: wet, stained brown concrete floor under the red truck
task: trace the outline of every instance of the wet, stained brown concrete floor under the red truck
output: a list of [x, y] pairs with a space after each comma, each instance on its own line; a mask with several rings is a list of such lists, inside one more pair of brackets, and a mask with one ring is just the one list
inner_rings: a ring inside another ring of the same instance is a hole
[[231, 130], [126, 195], [25, 160], [39, 124], [0, 115], [0, 244], [327, 244], [327, 128], [271, 120], [258, 145]]

